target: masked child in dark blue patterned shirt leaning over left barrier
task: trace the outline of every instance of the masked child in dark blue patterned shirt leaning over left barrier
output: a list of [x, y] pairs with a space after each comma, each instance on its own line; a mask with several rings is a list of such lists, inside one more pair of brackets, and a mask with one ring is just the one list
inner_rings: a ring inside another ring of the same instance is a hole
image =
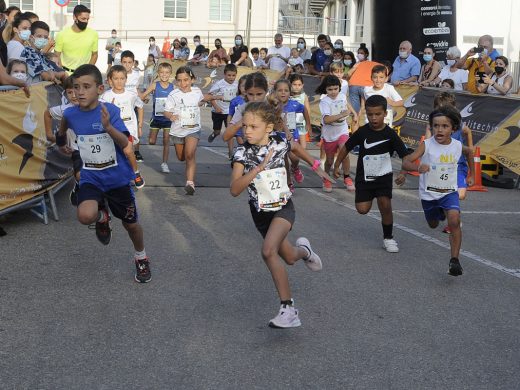
[[29, 45], [24, 47], [20, 59], [27, 64], [27, 74], [31, 83], [56, 80], [64, 82], [67, 78], [65, 70], [42, 53], [42, 49], [49, 44], [49, 25], [42, 21], [34, 22], [30, 33]]

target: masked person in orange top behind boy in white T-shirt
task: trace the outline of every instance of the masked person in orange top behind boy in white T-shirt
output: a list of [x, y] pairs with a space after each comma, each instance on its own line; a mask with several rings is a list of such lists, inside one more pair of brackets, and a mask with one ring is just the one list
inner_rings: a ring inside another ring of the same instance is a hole
[[372, 68], [381, 65], [378, 62], [369, 61], [369, 51], [365, 43], [359, 45], [357, 62], [347, 72], [348, 93], [350, 104], [356, 112], [361, 110], [361, 99], [365, 96], [365, 87], [374, 85], [372, 82]]

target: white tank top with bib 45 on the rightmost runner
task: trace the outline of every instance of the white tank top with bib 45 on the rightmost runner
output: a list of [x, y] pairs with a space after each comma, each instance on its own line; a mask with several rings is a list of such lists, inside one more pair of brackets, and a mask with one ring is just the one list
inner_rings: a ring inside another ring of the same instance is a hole
[[456, 139], [452, 138], [448, 145], [439, 144], [434, 137], [424, 141], [421, 164], [428, 164], [430, 171], [419, 177], [421, 199], [440, 199], [457, 191], [457, 162], [461, 154], [462, 143]]

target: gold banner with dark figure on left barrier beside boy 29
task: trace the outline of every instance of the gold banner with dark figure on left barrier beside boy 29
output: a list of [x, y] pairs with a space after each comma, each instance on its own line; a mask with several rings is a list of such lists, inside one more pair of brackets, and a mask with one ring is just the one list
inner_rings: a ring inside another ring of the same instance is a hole
[[[0, 210], [44, 193], [72, 173], [70, 157], [49, 147], [43, 114], [61, 104], [61, 90], [41, 83], [0, 93]], [[56, 125], [56, 124], [54, 124]]]

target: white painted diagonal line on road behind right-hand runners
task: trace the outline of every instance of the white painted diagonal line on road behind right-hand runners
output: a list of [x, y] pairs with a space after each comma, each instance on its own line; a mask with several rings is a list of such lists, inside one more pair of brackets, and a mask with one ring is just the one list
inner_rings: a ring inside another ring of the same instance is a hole
[[[348, 203], [345, 203], [345, 202], [342, 202], [340, 200], [337, 200], [336, 198], [333, 198], [332, 196], [329, 196], [329, 195], [325, 195], [321, 192], [318, 192], [316, 190], [313, 190], [311, 188], [302, 188], [303, 190], [307, 191], [307, 192], [310, 192], [311, 194], [313, 195], [316, 195], [322, 199], [325, 199], [325, 200], [328, 200], [329, 202], [332, 202], [332, 203], [335, 203], [337, 205], [340, 205], [342, 207], [345, 207], [349, 210], [352, 210], [352, 211], [356, 211], [356, 207], [355, 206], [352, 206]], [[373, 213], [373, 212], [369, 212], [368, 214], [366, 214], [368, 217], [372, 218], [372, 219], [375, 219], [376, 221], [381, 221], [381, 217], [379, 216], [379, 214], [376, 214], [376, 213]], [[450, 249], [450, 245], [448, 243], [445, 243], [445, 242], [442, 242], [432, 236], [429, 236], [428, 234], [424, 234], [424, 233], [421, 233], [415, 229], [412, 229], [412, 228], [409, 228], [408, 226], [404, 226], [404, 225], [401, 225], [399, 223], [394, 223], [394, 228], [396, 229], [399, 229], [399, 230], [402, 230], [404, 232], [407, 232], [417, 238], [420, 238], [424, 241], [427, 241], [427, 242], [430, 242], [432, 244], [435, 244], [437, 246], [440, 246], [441, 248], [445, 248], [445, 249]], [[503, 265], [499, 264], [499, 263], [495, 263], [494, 261], [491, 261], [491, 260], [487, 260], [479, 255], [476, 255], [472, 252], [469, 252], [469, 251], [466, 251], [466, 250], [462, 250], [460, 251], [460, 254], [464, 257], [467, 257], [468, 259], [470, 260], [473, 260], [473, 261], [476, 261], [478, 263], [481, 263], [487, 267], [490, 267], [490, 268], [493, 268], [497, 271], [500, 271], [500, 272], [503, 272], [505, 274], [508, 274], [508, 275], [511, 275], [511, 276], [514, 276], [516, 278], [519, 278], [520, 279], [520, 269], [512, 269], [512, 268], [507, 268], [507, 267], [504, 267]]]

